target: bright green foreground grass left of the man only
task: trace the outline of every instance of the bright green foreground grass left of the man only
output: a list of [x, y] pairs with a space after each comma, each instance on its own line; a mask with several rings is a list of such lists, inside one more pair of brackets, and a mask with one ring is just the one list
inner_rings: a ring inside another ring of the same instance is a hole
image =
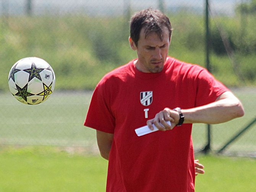
[[0, 150], [2, 192], [100, 192], [105, 189], [107, 161], [70, 154], [54, 147]]

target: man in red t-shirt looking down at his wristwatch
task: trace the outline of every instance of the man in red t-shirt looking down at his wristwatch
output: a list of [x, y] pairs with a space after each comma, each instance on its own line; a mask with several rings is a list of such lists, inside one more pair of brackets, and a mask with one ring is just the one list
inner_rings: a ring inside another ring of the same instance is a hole
[[[105, 75], [94, 90], [84, 125], [96, 129], [100, 154], [109, 160], [109, 192], [194, 191], [192, 123], [244, 115], [206, 69], [168, 56], [171, 35], [160, 11], [136, 13], [129, 42], [138, 59]], [[146, 124], [160, 131], [138, 137], [134, 130]]]

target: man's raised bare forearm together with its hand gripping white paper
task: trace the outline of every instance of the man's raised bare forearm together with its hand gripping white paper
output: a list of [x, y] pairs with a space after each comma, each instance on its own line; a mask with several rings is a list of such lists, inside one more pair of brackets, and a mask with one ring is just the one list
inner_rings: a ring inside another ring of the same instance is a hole
[[[181, 109], [184, 116], [183, 123], [205, 123], [218, 124], [230, 121], [244, 115], [244, 109], [241, 102], [231, 92], [221, 94], [215, 102], [207, 105]], [[170, 121], [171, 125], [166, 121]], [[160, 130], [172, 130], [180, 121], [180, 115], [177, 111], [170, 108], [164, 108], [156, 114], [154, 119], [147, 121], [147, 126], [153, 130], [153, 124]]]

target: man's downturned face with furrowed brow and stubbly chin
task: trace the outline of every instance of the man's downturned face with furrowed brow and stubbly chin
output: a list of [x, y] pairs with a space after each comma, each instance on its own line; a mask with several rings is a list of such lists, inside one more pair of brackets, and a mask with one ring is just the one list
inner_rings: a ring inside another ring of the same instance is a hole
[[169, 31], [163, 29], [163, 40], [155, 32], [145, 38], [144, 28], [141, 29], [138, 46], [129, 38], [131, 48], [137, 51], [136, 68], [144, 73], [159, 73], [164, 68], [170, 46]]

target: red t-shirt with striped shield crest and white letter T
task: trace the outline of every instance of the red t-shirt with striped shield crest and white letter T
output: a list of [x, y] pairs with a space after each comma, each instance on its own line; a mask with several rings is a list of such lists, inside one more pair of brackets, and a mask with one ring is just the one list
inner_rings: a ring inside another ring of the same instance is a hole
[[99, 82], [84, 123], [114, 134], [107, 191], [194, 191], [192, 124], [141, 137], [134, 130], [165, 107], [206, 105], [228, 89], [206, 69], [174, 58], [167, 59], [160, 73], [140, 72], [133, 62]]

